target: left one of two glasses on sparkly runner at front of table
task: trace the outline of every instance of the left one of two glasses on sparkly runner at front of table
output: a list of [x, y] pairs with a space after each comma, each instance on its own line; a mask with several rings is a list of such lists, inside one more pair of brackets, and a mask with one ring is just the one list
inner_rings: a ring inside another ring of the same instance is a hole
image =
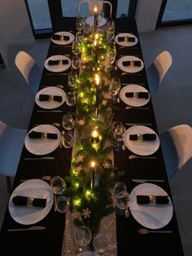
[[81, 226], [77, 228], [75, 237], [77, 245], [79, 245], [81, 249], [84, 249], [86, 245], [89, 245], [89, 242], [92, 239], [92, 234], [89, 227]]

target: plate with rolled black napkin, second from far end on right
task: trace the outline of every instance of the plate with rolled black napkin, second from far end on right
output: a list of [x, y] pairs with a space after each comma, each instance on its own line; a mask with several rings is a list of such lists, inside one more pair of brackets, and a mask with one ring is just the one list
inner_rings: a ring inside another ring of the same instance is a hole
[[144, 63], [136, 56], [127, 55], [117, 61], [117, 66], [120, 70], [124, 71], [124, 73], [137, 73], [144, 68]]

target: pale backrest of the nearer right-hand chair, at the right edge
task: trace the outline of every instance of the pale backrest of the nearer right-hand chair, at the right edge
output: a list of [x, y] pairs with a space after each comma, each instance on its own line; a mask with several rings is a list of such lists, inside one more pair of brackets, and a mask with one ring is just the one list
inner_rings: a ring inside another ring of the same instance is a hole
[[192, 127], [174, 126], [168, 130], [177, 149], [178, 168], [181, 169], [192, 157]]

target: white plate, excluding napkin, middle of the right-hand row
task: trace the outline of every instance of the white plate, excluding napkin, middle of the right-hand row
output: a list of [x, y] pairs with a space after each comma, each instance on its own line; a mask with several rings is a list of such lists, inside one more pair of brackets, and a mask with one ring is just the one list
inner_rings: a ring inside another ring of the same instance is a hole
[[124, 102], [124, 104], [128, 104], [129, 106], [132, 106], [132, 107], [144, 106], [150, 101], [150, 94], [149, 94], [149, 99], [132, 98], [132, 97], [125, 96], [126, 92], [140, 92], [140, 91], [149, 93], [149, 91], [146, 90], [146, 88], [144, 88], [142, 86], [137, 86], [135, 84], [124, 86], [120, 90], [120, 99]]

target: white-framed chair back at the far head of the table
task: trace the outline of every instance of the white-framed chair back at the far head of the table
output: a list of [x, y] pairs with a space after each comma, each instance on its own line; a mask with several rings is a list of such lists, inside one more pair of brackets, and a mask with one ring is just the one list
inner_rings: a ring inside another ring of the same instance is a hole
[[94, 15], [94, 8], [97, 7], [98, 13], [103, 11], [103, 4], [107, 4], [110, 7], [110, 18], [112, 16], [112, 5], [111, 2], [103, 1], [103, 0], [81, 0], [79, 2], [79, 15], [81, 15], [81, 5], [83, 3], [88, 3], [89, 15]]

